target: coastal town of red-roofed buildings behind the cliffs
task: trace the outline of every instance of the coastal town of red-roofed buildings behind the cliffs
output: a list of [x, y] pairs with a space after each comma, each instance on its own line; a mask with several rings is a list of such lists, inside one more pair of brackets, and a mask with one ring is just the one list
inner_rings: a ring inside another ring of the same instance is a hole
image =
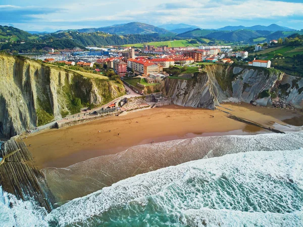
[[[276, 40], [272, 40], [275, 43]], [[256, 51], [263, 50], [256, 45]], [[203, 64], [231, 65], [234, 61], [253, 67], [270, 68], [270, 60], [247, 61], [247, 51], [233, 51], [231, 46], [199, 46], [168, 48], [166, 46], [155, 47], [144, 45], [143, 48], [133, 47], [87, 47], [89, 51], [54, 49], [42, 56], [34, 56], [34, 59], [43, 60], [43, 63], [58, 64], [61, 66], [74, 66], [79, 69], [90, 70], [96, 74], [114, 72], [126, 82], [129, 78], [143, 78], [147, 84], [160, 83], [170, 74], [169, 69], [186, 69], [193, 67], [191, 72], [198, 71], [198, 66]], [[181, 70], [187, 72], [188, 70]], [[189, 70], [190, 71], [190, 70]], [[145, 83], [144, 82], [144, 83]], [[127, 83], [127, 82], [126, 82]], [[143, 94], [144, 83], [127, 85], [135, 92]]]

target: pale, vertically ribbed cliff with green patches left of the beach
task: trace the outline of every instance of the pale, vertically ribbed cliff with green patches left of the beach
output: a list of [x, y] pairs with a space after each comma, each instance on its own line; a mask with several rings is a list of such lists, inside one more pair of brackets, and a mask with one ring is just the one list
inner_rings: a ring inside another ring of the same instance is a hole
[[106, 77], [0, 55], [0, 130], [7, 137], [123, 93]]

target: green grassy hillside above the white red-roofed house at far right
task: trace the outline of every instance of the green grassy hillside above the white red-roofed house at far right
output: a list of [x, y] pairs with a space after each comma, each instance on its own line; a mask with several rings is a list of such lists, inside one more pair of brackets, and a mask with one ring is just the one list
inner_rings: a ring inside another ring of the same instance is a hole
[[283, 57], [293, 57], [297, 54], [303, 54], [303, 46], [280, 46], [277, 48], [269, 48], [267, 50], [257, 52], [256, 54], [264, 59], [272, 59], [275, 54], [281, 54]]

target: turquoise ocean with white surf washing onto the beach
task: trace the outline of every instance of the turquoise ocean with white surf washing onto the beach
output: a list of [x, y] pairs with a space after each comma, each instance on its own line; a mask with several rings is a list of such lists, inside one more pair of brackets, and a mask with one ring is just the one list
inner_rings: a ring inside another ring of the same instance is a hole
[[303, 226], [302, 133], [227, 135], [223, 156], [119, 180], [51, 213], [0, 191], [0, 226]]

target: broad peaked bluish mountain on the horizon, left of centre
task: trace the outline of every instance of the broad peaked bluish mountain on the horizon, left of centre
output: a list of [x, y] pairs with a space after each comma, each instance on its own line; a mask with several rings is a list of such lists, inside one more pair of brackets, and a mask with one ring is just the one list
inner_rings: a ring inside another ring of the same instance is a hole
[[127, 24], [118, 24], [112, 25], [107, 27], [100, 27], [100, 28], [84, 28], [78, 29], [79, 32], [96, 32], [96, 31], [103, 31], [110, 34], [150, 34], [150, 33], [160, 33], [166, 34], [169, 31], [164, 28], [159, 28], [154, 25], [144, 24], [139, 22], [131, 22]]

